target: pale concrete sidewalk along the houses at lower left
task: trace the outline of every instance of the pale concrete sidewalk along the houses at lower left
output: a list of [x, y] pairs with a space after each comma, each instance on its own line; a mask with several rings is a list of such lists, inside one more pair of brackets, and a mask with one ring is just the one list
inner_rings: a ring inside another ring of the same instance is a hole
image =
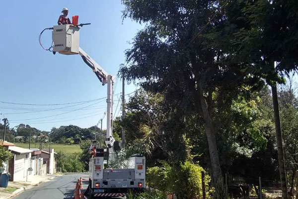
[[8, 182], [7, 188], [0, 188], [0, 199], [9, 199], [24, 190], [29, 190], [43, 182], [52, 180], [53, 176], [30, 176], [27, 182]]

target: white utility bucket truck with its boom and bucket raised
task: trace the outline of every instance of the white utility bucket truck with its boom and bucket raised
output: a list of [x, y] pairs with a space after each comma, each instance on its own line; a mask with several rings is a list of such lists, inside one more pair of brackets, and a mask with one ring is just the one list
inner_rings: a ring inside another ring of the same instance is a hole
[[[121, 142], [113, 138], [113, 84], [115, 77], [109, 75], [85, 51], [79, 47], [80, 25], [56, 25], [53, 28], [53, 52], [63, 55], [80, 55], [83, 61], [93, 70], [102, 85], [107, 84], [107, 131], [106, 149], [97, 148], [96, 141], [90, 146], [89, 186], [85, 196], [90, 198], [125, 197], [129, 190], [141, 192], [145, 189], [146, 159], [135, 154], [126, 161], [122, 169], [105, 169], [104, 154], [108, 153], [108, 163], [115, 161]], [[55, 54], [54, 53], [54, 54]]]

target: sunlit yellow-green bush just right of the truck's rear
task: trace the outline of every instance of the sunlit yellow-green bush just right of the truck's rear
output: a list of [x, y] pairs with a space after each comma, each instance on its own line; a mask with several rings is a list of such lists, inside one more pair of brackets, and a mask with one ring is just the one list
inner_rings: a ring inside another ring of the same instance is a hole
[[[190, 161], [182, 163], [180, 167], [171, 167], [165, 161], [160, 161], [162, 167], [148, 168], [147, 184], [164, 195], [176, 194], [182, 199], [196, 199], [202, 197], [202, 167]], [[205, 186], [208, 187], [210, 177], [205, 175]]]

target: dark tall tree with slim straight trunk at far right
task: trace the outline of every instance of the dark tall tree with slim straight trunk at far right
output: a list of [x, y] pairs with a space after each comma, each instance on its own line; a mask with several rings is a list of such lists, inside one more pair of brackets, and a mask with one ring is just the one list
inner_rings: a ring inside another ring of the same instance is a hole
[[250, 62], [246, 72], [271, 86], [283, 199], [288, 193], [277, 84], [283, 82], [281, 72], [298, 66], [297, 9], [298, 2], [292, 0], [239, 0], [226, 9], [234, 31], [230, 37], [235, 47], [231, 59]]

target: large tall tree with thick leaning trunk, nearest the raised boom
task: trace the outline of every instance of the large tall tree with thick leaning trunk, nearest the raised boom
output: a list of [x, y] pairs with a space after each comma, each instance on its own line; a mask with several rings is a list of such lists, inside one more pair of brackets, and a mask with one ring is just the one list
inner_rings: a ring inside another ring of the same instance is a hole
[[[225, 4], [218, 0], [123, 0], [124, 17], [143, 22], [146, 27], [134, 38], [126, 52], [126, 78], [139, 79], [141, 86], [164, 94], [180, 119], [202, 115], [208, 141], [212, 177], [222, 177], [214, 123], [214, 94], [229, 104], [251, 76], [242, 65], [225, 60]], [[221, 45], [219, 45], [221, 44]], [[257, 82], [257, 81], [256, 81]], [[201, 121], [197, 121], [198, 124]]]

